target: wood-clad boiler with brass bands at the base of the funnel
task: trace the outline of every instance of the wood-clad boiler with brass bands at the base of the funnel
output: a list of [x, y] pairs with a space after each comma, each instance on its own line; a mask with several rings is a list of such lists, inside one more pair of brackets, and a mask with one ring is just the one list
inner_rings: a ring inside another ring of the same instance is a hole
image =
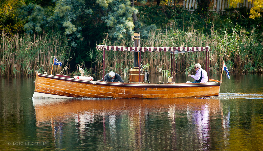
[[[145, 70], [141, 68], [140, 83], [146, 83], [147, 77], [145, 78]], [[139, 67], [134, 67], [128, 70], [128, 82], [139, 83]]]

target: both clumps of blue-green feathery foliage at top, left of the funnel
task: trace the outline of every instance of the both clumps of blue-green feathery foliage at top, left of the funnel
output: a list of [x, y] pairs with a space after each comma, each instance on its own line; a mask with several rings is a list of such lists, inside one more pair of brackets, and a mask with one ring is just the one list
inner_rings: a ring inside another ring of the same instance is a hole
[[[81, 38], [83, 23], [87, 20], [96, 26], [95, 20], [105, 22], [109, 35], [121, 39], [130, 35], [134, 28], [133, 13], [129, 0], [53, 0], [54, 5], [42, 7], [36, 3], [23, 4], [19, 16], [23, 19], [26, 33], [43, 30], [64, 30], [66, 35]], [[98, 11], [99, 10], [99, 11]], [[93, 13], [96, 15], [89, 17]]]

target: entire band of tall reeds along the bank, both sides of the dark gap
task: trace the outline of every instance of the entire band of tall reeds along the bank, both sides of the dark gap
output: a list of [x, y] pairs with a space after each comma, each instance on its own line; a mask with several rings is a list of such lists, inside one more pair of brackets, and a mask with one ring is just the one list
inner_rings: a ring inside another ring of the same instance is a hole
[[[147, 39], [141, 38], [144, 47], [168, 46], [210, 46], [210, 72], [221, 73], [222, 62], [225, 61], [230, 72], [256, 73], [263, 72], [263, 34], [255, 34], [254, 30], [235, 27], [208, 33], [198, 30], [188, 32], [178, 29], [151, 31]], [[105, 45], [133, 46], [131, 39], [111, 42], [107, 36]], [[66, 37], [60, 33], [44, 33], [37, 35], [17, 34], [9, 36], [2, 33], [0, 41], [0, 74], [1, 77], [32, 76], [35, 71], [51, 72], [52, 59], [55, 56], [63, 63], [62, 67], [54, 66], [53, 74], [67, 74], [69, 71], [69, 52]], [[86, 74], [102, 73], [103, 51], [87, 50], [91, 68], [84, 70]], [[189, 52], [175, 55], [175, 72], [193, 71], [193, 65], [200, 63], [205, 68], [205, 52]], [[133, 67], [133, 53], [106, 51], [105, 70], [127, 74]], [[150, 73], [170, 74], [171, 55], [169, 52], [143, 52], [141, 64]]]

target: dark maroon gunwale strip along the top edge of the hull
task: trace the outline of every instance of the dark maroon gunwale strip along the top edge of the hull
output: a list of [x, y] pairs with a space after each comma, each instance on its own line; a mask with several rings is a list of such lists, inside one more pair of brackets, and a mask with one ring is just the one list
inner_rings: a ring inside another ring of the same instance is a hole
[[58, 80], [65, 80], [71, 82], [78, 82], [78, 83], [88, 83], [88, 84], [98, 84], [98, 85], [108, 85], [108, 86], [120, 86], [120, 87], [156, 87], [156, 88], [181, 88], [181, 87], [207, 87], [207, 86], [220, 86], [221, 83], [179, 83], [179, 84], [133, 84], [133, 83], [117, 83], [117, 82], [102, 82], [102, 81], [84, 81], [79, 79], [73, 78], [64, 78], [64, 77], [56, 77], [53, 75], [47, 74], [38, 74], [39, 77], [46, 77], [51, 79], [58, 79]]

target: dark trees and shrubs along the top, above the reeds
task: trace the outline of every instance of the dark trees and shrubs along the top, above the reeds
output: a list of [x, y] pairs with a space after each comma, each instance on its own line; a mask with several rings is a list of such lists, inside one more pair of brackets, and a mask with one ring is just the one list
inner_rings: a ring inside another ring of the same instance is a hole
[[[255, 33], [262, 33], [262, 0], [252, 1], [250, 18], [245, 8], [229, 9], [224, 15], [210, 12], [207, 10], [210, 1], [197, 0], [198, 10], [189, 12], [180, 5], [183, 0], [171, 4], [167, 0], [0, 0], [0, 29], [5, 33], [63, 34], [72, 46], [69, 56], [73, 58], [70, 61], [73, 68], [76, 64], [92, 68], [97, 55], [93, 50], [105, 36], [114, 42], [130, 39], [134, 31], [146, 39], [152, 36], [149, 31], [157, 28], [209, 33], [211, 29], [236, 25], [250, 30], [255, 27]], [[235, 7], [244, 0], [229, 1]]]

